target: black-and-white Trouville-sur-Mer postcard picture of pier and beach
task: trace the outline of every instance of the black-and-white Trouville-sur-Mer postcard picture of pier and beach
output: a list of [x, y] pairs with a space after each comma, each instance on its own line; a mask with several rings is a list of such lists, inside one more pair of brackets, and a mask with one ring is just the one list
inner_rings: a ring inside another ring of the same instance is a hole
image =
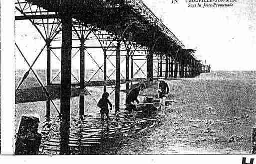
[[255, 0], [14, 1], [13, 155], [256, 154]]

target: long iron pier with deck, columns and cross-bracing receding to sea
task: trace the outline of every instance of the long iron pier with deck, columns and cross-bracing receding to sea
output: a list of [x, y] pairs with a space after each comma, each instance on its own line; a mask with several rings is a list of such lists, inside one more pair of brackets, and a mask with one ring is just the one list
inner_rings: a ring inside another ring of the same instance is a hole
[[[29, 55], [22, 43], [15, 41], [16, 51], [29, 67], [18, 79], [16, 102], [24, 102], [22, 97], [29, 95], [22, 83], [32, 74], [43, 91], [39, 97], [56, 109], [66, 125], [72, 90], [80, 96], [80, 116], [84, 115], [84, 94], [90, 86], [102, 86], [104, 92], [112, 87], [118, 112], [120, 84], [126, 84], [129, 91], [130, 82], [192, 78], [210, 72], [210, 66], [205, 69], [195, 58], [195, 50], [185, 49], [142, 0], [16, 0], [15, 9], [15, 20], [29, 21], [44, 41], [40, 52]], [[45, 82], [33, 68], [44, 52]], [[31, 56], [32, 63], [27, 60]], [[53, 69], [53, 60], [60, 64], [59, 69]], [[73, 63], [79, 65], [77, 72], [72, 70]], [[95, 66], [92, 71], [89, 65]], [[72, 86], [77, 88], [71, 90]], [[53, 99], [60, 99], [60, 107]]]

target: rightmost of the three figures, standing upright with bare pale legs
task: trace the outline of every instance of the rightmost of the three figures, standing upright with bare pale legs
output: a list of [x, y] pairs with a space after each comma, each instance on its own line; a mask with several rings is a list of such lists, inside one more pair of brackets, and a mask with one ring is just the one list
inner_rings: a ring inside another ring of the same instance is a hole
[[159, 84], [158, 84], [158, 93], [159, 93], [159, 98], [160, 98], [160, 107], [161, 107], [161, 112], [160, 114], [165, 114], [165, 109], [166, 109], [166, 98], [168, 97], [168, 93], [169, 93], [169, 86], [167, 84], [167, 82], [165, 82], [164, 80], [160, 79], [158, 80]]

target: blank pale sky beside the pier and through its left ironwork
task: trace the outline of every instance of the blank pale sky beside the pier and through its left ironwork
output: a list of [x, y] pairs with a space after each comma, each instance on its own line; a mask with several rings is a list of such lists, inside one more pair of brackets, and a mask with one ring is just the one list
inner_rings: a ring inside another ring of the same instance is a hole
[[[228, 8], [193, 8], [188, 7], [186, 0], [179, 0], [178, 4], [172, 4], [172, 0], [143, 1], [185, 48], [196, 49], [197, 59], [206, 61], [212, 70], [256, 71], [255, 0], [237, 0], [233, 7]], [[16, 42], [22, 51], [28, 55], [38, 53], [43, 46], [38, 32], [28, 21], [16, 21], [15, 24]], [[100, 50], [91, 51], [102, 53]], [[40, 57], [35, 67], [45, 67], [45, 56]], [[30, 62], [33, 59], [30, 58]], [[90, 64], [89, 67], [94, 67]], [[20, 55], [16, 55], [16, 68], [25, 65]]]

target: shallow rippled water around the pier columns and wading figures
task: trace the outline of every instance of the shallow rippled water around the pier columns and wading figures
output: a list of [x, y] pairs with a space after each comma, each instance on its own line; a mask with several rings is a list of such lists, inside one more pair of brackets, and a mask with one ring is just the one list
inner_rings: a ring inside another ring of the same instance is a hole
[[[39, 154], [107, 154], [107, 150], [120, 146], [116, 142], [122, 138], [133, 135], [146, 126], [150, 121], [139, 119], [139, 124], [132, 123], [132, 117], [127, 114], [120, 115], [120, 121], [113, 123], [115, 102], [113, 87], [107, 87], [109, 99], [113, 105], [110, 111], [110, 123], [107, 125], [106, 116], [104, 125], [101, 124], [99, 108], [96, 106], [103, 93], [103, 87], [86, 87], [88, 94], [71, 98], [70, 123], [64, 124], [57, 117], [58, 113], [49, 101], [34, 101], [15, 104], [15, 130], [17, 131], [19, 119], [22, 115], [36, 115], [40, 118], [39, 133], [42, 134]], [[121, 89], [125, 85], [121, 84]], [[125, 92], [120, 92], [120, 108], [125, 108]], [[84, 97], [84, 118], [79, 118], [80, 98]], [[144, 96], [140, 99], [143, 101]], [[48, 105], [48, 104], [51, 105]], [[59, 108], [60, 100], [53, 100]], [[125, 122], [125, 120], [127, 120]], [[146, 124], [145, 124], [146, 123]], [[122, 141], [123, 142], [123, 141]]]

